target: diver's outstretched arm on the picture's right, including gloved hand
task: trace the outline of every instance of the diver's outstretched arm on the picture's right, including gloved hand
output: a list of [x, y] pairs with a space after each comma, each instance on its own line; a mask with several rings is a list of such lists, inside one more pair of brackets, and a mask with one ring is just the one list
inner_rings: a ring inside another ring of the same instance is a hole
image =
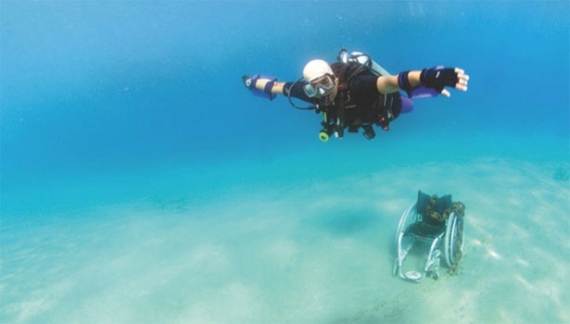
[[392, 93], [404, 90], [410, 94], [414, 88], [424, 86], [434, 89], [437, 93], [449, 97], [451, 94], [445, 87], [467, 91], [469, 75], [460, 68], [436, 67], [421, 71], [406, 71], [397, 75], [381, 76], [376, 81], [376, 87], [381, 93]]

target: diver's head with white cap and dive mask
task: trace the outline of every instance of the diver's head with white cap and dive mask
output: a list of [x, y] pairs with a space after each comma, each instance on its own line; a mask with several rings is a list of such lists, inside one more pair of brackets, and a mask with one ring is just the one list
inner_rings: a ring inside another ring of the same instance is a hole
[[305, 93], [310, 98], [324, 97], [335, 87], [335, 77], [329, 64], [323, 60], [312, 60], [303, 69], [303, 78], [307, 83]]

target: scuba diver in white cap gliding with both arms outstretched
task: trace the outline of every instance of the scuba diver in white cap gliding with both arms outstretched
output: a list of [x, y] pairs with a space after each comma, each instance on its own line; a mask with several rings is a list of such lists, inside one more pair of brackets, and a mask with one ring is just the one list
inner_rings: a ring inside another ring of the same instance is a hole
[[[321, 113], [319, 138], [326, 142], [333, 134], [342, 138], [346, 129], [357, 133], [360, 128], [372, 139], [376, 136], [373, 125], [387, 131], [401, 113], [412, 111], [411, 99], [439, 94], [449, 97], [446, 87], [467, 91], [469, 76], [462, 69], [443, 66], [391, 75], [370, 56], [349, 54], [342, 48], [332, 64], [320, 59], [307, 63], [303, 77], [295, 82], [277, 82], [277, 78], [257, 74], [244, 75], [242, 81], [254, 95], [270, 100], [285, 95], [293, 107]], [[297, 106], [292, 98], [310, 106]]]

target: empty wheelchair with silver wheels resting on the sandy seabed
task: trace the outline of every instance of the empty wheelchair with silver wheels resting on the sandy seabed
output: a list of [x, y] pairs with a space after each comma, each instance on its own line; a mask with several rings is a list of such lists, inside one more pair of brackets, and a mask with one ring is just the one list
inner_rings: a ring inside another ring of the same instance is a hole
[[[404, 211], [398, 224], [398, 254], [392, 275], [414, 282], [421, 282], [425, 277], [437, 280], [442, 255], [449, 267], [448, 272], [455, 274], [463, 253], [464, 213], [465, 205], [453, 203], [451, 195], [438, 198], [418, 191], [418, 200]], [[427, 247], [427, 258], [423, 259], [421, 251]], [[410, 267], [409, 261], [404, 267], [404, 261], [412, 254], [410, 252], [415, 253], [417, 267], [425, 260], [421, 271]]]

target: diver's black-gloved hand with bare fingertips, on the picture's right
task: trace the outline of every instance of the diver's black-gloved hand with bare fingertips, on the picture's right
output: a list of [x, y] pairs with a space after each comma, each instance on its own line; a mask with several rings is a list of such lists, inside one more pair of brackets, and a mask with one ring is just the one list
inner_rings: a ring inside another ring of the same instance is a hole
[[423, 69], [420, 74], [420, 82], [427, 88], [433, 88], [446, 97], [451, 93], [445, 87], [454, 87], [457, 90], [467, 91], [469, 75], [460, 68], [444, 68], [438, 66], [431, 69]]

